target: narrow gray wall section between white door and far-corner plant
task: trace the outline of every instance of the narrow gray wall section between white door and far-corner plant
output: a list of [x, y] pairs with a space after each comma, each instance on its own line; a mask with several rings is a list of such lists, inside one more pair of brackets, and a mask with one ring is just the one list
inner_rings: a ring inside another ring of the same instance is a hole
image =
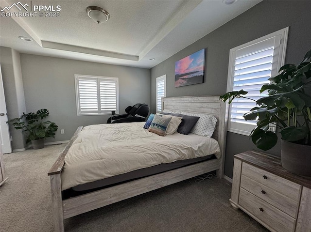
[[[8, 119], [19, 118], [26, 109], [19, 53], [1, 46], [0, 62]], [[24, 148], [26, 143], [21, 130], [16, 130], [12, 124], [9, 124], [9, 128], [13, 138], [12, 149]]]

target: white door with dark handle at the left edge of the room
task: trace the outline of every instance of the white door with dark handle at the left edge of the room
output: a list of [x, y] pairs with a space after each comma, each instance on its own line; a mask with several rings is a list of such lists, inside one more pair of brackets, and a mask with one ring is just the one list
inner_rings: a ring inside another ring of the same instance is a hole
[[2, 147], [3, 154], [12, 152], [9, 124], [7, 123], [7, 121], [8, 116], [6, 112], [2, 73], [0, 66], [0, 144]]

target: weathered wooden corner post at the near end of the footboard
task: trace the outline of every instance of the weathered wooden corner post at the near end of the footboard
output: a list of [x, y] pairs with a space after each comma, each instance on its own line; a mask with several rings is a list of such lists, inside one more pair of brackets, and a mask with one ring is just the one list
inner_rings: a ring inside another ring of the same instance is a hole
[[64, 232], [64, 216], [60, 174], [50, 175], [55, 232]]

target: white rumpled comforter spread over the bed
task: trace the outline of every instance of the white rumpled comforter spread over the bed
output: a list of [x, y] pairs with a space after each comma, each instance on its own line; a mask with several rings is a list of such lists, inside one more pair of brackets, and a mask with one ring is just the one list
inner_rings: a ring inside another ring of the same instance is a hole
[[144, 123], [99, 124], [83, 128], [65, 157], [62, 190], [114, 175], [215, 154], [215, 139], [194, 134], [161, 137]]

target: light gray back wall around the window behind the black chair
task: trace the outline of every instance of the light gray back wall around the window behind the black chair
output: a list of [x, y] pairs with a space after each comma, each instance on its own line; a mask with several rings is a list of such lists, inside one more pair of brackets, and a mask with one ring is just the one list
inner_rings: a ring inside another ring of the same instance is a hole
[[[149, 69], [29, 54], [20, 54], [20, 63], [26, 112], [47, 108], [48, 120], [59, 126], [55, 139], [48, 138], [46, 142], [69, 140], [78, 126], [103, 124], [110, 117], [77, 116], [74, 74], [119, 77], [120, 113], [135, 103], [150, 104]], [[60, 134], [60, 129], [65, 129], [65, 134]]]

